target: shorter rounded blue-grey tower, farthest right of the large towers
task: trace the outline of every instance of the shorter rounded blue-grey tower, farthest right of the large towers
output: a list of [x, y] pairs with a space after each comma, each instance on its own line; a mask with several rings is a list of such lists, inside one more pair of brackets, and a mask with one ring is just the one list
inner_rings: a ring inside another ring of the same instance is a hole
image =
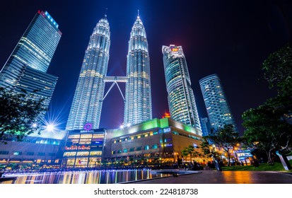
[[232, 124], [235, 131], [238, 131], [218, 75], [206, 76], [199, 80], [199, 84], [211, 128], [219, 129], [224, 127], [225, 124]]

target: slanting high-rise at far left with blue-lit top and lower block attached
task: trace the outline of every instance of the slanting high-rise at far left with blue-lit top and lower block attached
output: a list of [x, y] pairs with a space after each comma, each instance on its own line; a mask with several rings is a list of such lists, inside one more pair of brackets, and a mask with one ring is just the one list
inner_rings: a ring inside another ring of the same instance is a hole
[[37, 11], [1, 70], [0, 86], [16, 93], [33, 93], [31, 98], [44, 99], [47, 107], [58, 78], [46, 72], [61, 36], [52, 16]]

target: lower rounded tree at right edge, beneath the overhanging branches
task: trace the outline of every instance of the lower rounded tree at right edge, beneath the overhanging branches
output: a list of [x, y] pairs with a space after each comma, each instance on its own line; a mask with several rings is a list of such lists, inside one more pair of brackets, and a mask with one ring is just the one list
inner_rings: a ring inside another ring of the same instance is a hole
[[266, 151], [268, 162], [271, 162], [273, 150], [285, 149], [292, 141], [292, 126], [285, 118], [285, 110], [275, 105], [270, 99], [256, 109], [243, 113], [243, 126], [247, 143], [254, 143], [257, 148]]

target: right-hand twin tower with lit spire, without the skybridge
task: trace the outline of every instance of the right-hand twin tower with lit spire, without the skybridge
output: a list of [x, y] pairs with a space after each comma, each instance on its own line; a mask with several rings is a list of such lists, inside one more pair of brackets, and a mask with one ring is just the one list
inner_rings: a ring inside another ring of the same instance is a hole
[[144, 25], [138, 16], [130, 34], [127, 54], [124, 124], [152, 119], [151, 78], [148, 42]]

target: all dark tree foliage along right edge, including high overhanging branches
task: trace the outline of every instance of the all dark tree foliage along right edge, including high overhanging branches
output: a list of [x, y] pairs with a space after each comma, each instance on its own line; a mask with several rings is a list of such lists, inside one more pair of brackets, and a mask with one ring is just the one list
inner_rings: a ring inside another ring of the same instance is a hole
[[263, 62], [264, 79], [278, 94], [263, 105], [243, 113], [248, 143], [267, 152], [285, 149], [292, 141], [292, 45], [288, 43]]

